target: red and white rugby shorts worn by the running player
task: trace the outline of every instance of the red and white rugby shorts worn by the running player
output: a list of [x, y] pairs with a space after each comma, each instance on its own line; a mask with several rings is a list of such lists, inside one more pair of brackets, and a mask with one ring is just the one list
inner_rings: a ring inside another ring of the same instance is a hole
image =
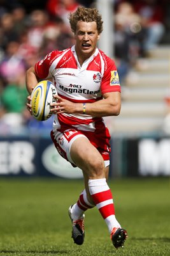
[[77, 138], [85, 137], [87, 140], [97, 148], [101, 156], [103, 156], [105, 167], [110, 165], [110, 133], [106, 128], [103, 133], [79, 131], [76, 129], [67, 129], [64, 132], [51, 131], [51, 138], [59, 152], [60, 156], [64, 157], [73, 166], [76, 166], [73, 159], [70, 156], [71, 145]]

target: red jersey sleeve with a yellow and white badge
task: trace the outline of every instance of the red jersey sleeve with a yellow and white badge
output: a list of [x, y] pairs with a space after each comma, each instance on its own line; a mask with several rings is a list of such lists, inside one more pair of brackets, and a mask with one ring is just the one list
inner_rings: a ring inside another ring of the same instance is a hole
[[101, 81], [101, 92], [102, 94], [107, 92], [121, 92], [117, 67], [115, 62], [109, 57], [106, 58], [106, 70], [104, 70]]

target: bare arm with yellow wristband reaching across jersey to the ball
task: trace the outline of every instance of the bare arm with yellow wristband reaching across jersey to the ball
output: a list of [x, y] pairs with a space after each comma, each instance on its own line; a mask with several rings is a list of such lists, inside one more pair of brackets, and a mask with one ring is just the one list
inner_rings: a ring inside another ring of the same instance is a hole
[[[104, 99], [98, 100], [94, 103], [85, 104], [85, 114], [91, 116], [117, 116], [120, 113], [121, 108], [121, 95], [120, 92], [109, 92], [104, 93]], [[55, 96], [59, 100], [59, 103], [52, 103], [51, 106], [54, 108], [51, 109], [53, 113], [83, 113], [83, 104], [74, 103], [66, 99], [62, 99], [58, 95]]]

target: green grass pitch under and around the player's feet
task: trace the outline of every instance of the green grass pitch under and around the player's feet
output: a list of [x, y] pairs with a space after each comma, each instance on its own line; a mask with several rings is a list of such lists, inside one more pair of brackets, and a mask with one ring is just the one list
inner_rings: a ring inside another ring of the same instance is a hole
[[71, 239], [67, 209], [82, 180], [0, 179], [0, 255], [163, 256], [170, 255], [170, 182], [110, 180], [118, 221], [128, 231], [115, 250], [97, 209], [86, 212], [85, 243]]

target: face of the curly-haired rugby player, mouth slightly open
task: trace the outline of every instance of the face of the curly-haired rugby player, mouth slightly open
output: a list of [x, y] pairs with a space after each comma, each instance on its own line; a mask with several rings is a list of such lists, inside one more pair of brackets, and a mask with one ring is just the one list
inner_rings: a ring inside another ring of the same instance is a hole
[[76, 39], [77, 54], [89, 58], [94, 54], [97, 40], [100, 37], [96, 22], [78, 21], [74, 37]]

